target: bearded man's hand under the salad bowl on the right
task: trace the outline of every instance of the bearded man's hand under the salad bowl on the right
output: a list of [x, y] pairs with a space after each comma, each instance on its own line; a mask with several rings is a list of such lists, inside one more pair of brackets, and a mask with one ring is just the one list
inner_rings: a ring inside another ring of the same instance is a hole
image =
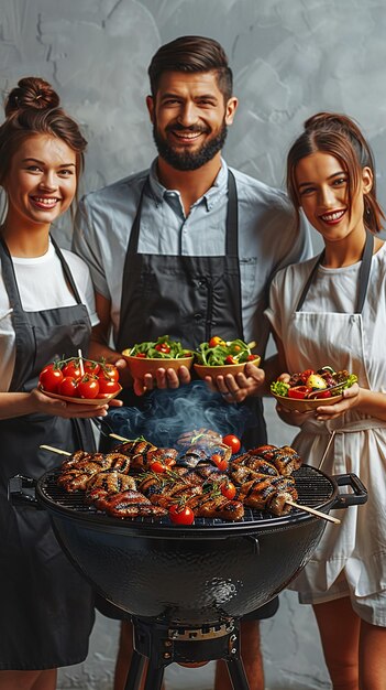
[[235, 376], [225, 374], [225, 376], [217, 376], [216, 379], [206, 376], [205, 380], [210, 390], [220, 392], [227, 402], [242, 402], [245, 398], [257, 395], [258, 389], [265, 382], [265, 371], [247, 363], [241, 374]]

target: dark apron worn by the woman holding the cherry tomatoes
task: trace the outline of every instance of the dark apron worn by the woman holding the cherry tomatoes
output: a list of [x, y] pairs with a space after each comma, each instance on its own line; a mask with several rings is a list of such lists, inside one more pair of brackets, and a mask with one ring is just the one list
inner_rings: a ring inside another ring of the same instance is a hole
[[[74, 306], [24, 312], [12, 259], [0, 238], [2, 277], [13, 309], [15, 365], [11, 391], [31, 391], [41, 369], [55, 357], [88, 351], [90, 321], [59, 249]], [[49, 285], [47, 285], [49, 289]], [[45, 510], [13, 507], [9, 477], [38, 478], [59, 464], [41, 443], [73, 452], [95, 450], [89, 420], [27, 414], [0, 420], [0, 669], [35, 670], [82, 661], [93, 624], [93, 595], [63, 553]]]

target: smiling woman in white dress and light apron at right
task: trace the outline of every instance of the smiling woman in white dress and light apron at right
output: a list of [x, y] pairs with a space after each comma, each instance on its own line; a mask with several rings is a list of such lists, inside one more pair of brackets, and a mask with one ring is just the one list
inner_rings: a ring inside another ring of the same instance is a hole
[[[320, 234], [319, 257], [279, 271], [267, 316], [278, 371], [331, 365], [357, 375], [330, 407], [279, 412], [300, 427], [293, 445], [330, 475], [354, 473], [367, 503], [337, 510], [311, 560], [291, 584], [312, 604], [334, 690], [386, 688], [386, 246], [375, 168], [356, 123], [320, 112], [287, 159], [297, 213]], [[288, 375], [286, 375], [288, 376]]]

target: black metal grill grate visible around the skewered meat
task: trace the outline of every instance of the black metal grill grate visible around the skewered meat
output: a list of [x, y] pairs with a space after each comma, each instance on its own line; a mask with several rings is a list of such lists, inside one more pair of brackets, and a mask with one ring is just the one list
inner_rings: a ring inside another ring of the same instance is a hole
[[[85, 503], [85, 493], [84, 492], [74, 492], [67, 493], [64, 488], [57, 485], [57, 477], [60, 471], [53, 471], [46, 473], [38, 481], [38, 489], [40, 495], [44, 499], [44, 503], [48, 505], [48, 507], [53, 508], [62, 508], [67, 515], [73, 514], [74, 516], [85, 516], [87, 519], [90, 519], [93, 516], [96, 522], [101, 521], [103, 524], [146, 524], [146, 525], [167, 525], [170, 526], [170, 520], [168, 517], [154, 519], [152, 517], [137, 517], [137, 518], [128, 518], [119, 520], [118, 518], [113, 518], [107, 516], [101, 510], [98, 510], [95, 506], [89, 506]], [[298, 492], [298, 500], [299, 505], [309, 506], [311, 508], [320, 508], [326, 503], [331, 500], [331, 497], [335, 490], [335, 486], [326, 475], [324, 473], [311, 467], [309, 465], [302, 465], [299, 470], [294, 472], [293, 474], [296, 481], [296, 488]], [[269, 514], [266, 510], [255, 510], [252, 508], [244, 508], [244, 518], [242, 520], [238, 520], [238, 522], [229, 522], [227, 520], [221, 520], [220, 518], [196, 518], [195, 527], [216, 527], [228, 525], [240, 525], [240, 524], [258, 524], [258, 522], [271, 522], [274, 527], [275, 522], [280, 521], [282, 517], [276, 517]], [[297, 508], [293, 508], [291, 513], [284, 516], [286, 519], [290, 515], [299, 515], [301, 511]], [[302, 513], [305, 515], [305, 513]]]

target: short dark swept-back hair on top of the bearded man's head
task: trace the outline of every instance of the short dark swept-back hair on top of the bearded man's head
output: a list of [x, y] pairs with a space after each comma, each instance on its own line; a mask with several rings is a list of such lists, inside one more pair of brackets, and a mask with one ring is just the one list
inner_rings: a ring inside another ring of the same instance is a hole
[[205, 36], [180, 36], [162, 45], [148, 67], [152, 96], [158, 90], [159, 77], [164, 72], [216, 72], [218, 87], [227, 101], [232, 96], [232, 69], [223, 47], [213, 39]]

